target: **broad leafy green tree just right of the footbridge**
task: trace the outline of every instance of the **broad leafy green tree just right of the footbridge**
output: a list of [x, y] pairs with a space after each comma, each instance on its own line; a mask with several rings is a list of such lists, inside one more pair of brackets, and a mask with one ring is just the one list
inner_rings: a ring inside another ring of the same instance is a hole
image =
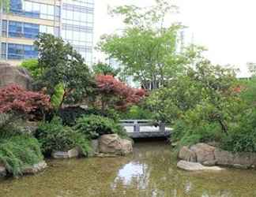
[[183, 76], [170, 80], [167, 87], [153, 92], [147, 106], [160, 121], [175, 124], [185, 118], [195, 125], [214, 122], [228, 133], [228, 126], [243, 109], [239, 91], [235, 91], [237, 84], [232, 69], [205, 60], [187, 68]]

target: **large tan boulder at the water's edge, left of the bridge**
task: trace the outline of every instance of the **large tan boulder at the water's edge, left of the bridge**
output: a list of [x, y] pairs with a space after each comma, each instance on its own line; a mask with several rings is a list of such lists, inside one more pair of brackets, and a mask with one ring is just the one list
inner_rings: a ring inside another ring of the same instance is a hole
[[126, 155], [133, 151], [132, 142], [121, 139], [117, 134], [100, 136], [99, 151], [103, 154]]

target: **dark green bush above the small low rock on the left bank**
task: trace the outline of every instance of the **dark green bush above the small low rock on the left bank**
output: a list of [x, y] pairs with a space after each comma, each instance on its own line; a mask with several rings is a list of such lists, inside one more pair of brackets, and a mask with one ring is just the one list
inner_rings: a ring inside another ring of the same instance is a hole
[[43, 122], [36, 131], [36, 138], [42, 146], [43, 154], [52, 151], [68, 151], [73, 147], [81, 147], [85, 155], [90, 149], [88, 139], [68, 126], [63, 126], [59, 117], [54, 117], [51, 122]]

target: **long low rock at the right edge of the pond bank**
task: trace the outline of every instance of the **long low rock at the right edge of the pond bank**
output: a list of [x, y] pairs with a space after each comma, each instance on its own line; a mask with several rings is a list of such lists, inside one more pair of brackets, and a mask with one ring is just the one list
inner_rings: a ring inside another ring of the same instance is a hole
[[256, 166], [255, 153], [232, 153], [216, 148], [215, 157], [218, 165], [227, 165], [235, 168], [254, 168]]

